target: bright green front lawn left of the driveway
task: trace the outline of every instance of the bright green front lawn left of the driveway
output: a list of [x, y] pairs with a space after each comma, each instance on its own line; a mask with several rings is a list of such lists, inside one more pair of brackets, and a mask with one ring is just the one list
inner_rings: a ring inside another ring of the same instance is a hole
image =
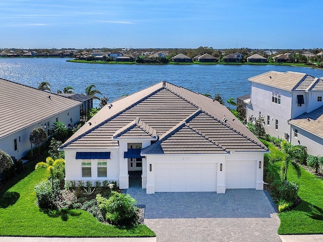
[[[32, 171], [6, 192], [0, 193], [0, 236], [49, 237], [150, 237], [146, 225], [132, 228], [106, 225], [83, 210], [47, 214], [37, 207], [34, 187], [46, 179], [46, 169]], [[6, 189], [5, 189], [6, 190]]]

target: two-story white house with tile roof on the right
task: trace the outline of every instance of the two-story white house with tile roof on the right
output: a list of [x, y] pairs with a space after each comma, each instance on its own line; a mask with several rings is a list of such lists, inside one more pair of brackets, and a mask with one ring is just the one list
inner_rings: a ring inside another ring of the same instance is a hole
[[251, 83], [246, 117], [264, 118], [267, 134], [307, 146], [309, 154], [323, 154], [323, 79], [305, 73], [270, 71], [248, 79]]

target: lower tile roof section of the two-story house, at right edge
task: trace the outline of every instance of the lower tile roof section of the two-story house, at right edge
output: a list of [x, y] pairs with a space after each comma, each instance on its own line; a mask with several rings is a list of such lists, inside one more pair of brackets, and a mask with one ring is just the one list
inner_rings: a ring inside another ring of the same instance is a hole
[[323, 138], [323, 106], [289, 120], [290, 124]]

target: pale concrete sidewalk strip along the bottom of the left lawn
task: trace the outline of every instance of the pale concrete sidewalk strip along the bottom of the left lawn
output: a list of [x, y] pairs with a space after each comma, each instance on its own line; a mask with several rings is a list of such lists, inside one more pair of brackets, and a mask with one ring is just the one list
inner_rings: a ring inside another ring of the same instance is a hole
[[141, 238], [58, 238], [58, 237], [0, 237], [0, 242], [156, 242], [156, 237]]

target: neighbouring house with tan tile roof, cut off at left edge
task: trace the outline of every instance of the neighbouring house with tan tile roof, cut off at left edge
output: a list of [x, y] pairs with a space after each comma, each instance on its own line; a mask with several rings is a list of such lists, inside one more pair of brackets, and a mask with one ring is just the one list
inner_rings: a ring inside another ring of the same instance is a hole
[[73, 126], [80, 120], [79, 101], [4, 79], [0, 87], [0, 149], [16, 159], [30, 150], [34, 128], [49, 133], [56, 121]]

